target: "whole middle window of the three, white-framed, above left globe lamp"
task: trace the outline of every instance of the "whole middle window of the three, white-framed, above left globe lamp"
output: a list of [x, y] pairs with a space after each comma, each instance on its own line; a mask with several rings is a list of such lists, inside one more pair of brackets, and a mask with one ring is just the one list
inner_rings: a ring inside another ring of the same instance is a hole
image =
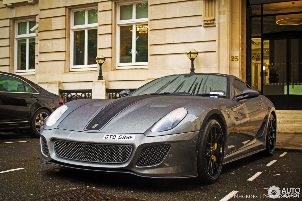
[[70, 71], [97, 70], [98, 9], [72, 10], [70, 27]]

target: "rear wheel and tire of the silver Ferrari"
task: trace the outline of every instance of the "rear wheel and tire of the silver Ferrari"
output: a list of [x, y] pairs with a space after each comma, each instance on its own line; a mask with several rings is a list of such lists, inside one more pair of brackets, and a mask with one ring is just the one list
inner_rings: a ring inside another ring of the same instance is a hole
[[273, 115], [269, 117], [268, 126], [266, 131], [265, 145], [266, 149], [263, 150], [264, 155], [272, 156], [276, 147], [276, 120]]

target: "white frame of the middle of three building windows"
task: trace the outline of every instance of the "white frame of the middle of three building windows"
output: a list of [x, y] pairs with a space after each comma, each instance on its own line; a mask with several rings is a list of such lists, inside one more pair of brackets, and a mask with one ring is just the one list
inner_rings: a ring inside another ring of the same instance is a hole
[[[98, 69], [98, 64], [91, 65], [73, 65], [73, 45], [74, 45], [74, 31], [85, 30], [85, 49], [84, 49], [84, 64], [88, 62], [88, 30], [89, 29], [98, 29], [98, 23], [88, 24], [88, 10], [98, 9], [97, 6], [85, 7], [85, 8], [76, 8], [71, 10], [70, 18], [70, 71], [96, 71]], [[84, 11], [85, 10], [85, 24], [74, 25], [74, 12]]]

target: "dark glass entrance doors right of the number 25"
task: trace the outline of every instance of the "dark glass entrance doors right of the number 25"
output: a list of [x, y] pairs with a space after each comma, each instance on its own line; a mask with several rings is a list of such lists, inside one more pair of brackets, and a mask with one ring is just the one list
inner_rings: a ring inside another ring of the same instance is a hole
[[277, 110], [302, 110], [302, 37], [264, 38], [263, 95]]

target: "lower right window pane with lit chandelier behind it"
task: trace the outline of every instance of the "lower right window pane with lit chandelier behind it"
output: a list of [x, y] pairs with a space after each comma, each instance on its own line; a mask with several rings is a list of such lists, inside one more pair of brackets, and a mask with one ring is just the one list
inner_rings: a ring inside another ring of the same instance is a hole
[[135, 62], [148, 61], [148, 25], [136, 25], [136, 57]]

